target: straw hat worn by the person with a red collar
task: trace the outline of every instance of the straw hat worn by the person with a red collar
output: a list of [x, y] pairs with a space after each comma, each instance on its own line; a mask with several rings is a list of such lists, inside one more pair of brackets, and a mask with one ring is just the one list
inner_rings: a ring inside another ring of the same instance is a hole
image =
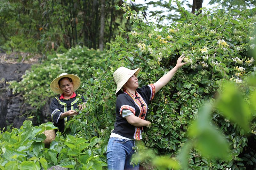
[[51, 89], [53, 92], [56, 92], [58, 94], [62, 94], [63, 92], [61, 91], [60, 89], [60, 86], [59, 86], [59, 80], [61, 78], [64, 78], [64, 77], [68, 77], [68, 78], [71, 78], [72, 79], [72, 83], [73, 83], [73, 91], [75, 92], [79, 87], [80, 87], [80, 78], [77, 77], [76, 75], [74, 74], [67, 74], [67, 73], [62, 73], [60, 74], [59, 77], [55, 78], [54, 80], [52, 80], [52, 83], [51, 83]]

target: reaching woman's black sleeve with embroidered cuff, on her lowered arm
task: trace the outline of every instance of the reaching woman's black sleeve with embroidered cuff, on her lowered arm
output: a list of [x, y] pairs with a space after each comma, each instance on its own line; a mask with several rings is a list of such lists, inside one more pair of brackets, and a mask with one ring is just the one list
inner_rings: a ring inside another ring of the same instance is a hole
[[135, 115], [134, 103], [131, 99], [128, 98], [128, 95], [120, 94], [116, 100], [116, 107], [119, 110], [121, 116], [123, 109], [130, 110]]

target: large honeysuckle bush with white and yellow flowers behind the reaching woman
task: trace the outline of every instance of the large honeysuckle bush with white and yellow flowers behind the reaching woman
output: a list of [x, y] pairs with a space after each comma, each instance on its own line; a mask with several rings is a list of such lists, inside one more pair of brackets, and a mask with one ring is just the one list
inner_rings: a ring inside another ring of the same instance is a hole
[[[104, 129], [105, 144], [114, 128], [116, 85], [113, 72], [120, 66], [140, 67], [139, 84], [142, 86], [156, 82], [175, 66], [181, 54], [186, 55], [184, 61], [188, 64], [177, 71], [150, 103], [148, 120], [153, 126], [143, 133], [146, 148], [173, 158], [188, 140], [186, 132], [190, 122], [198, 117], [198, 108], [206, 101], [215, 100], [222, 82], [233, 81], [244, 86], [244, 78], [254, 72], [251, 49], [254, 48], [255, 9], [232, 11], [236, 16], [221, 10], [203, 10], [194, 15], [180, 7], [178, 1], [176, 3], [181, 19], [161, 29], [154, 23], [144, 23], [141, 14], [130, 10], [126, 4], [121, 7], [124, 17], [131, 18], [133, 29], [126, 33], [127, 37], [116, 36], [116, 41], [108, 43], [108, 57], [98, 63], [98, 69], [92, 69], [93, 85], [84, 86], [89, 106], [86, 112], [95, 115], [94, 126], [98, 132]], [[120, 31], [124, 32], [122, 28]], [[242, 89], [246, 97], [254, 88]], [[255, 140], [252, 133], [247, 134], [248, 129], [230, 122], [217, 109], [213, 109], [211, 119], [232, 146], [231, 157], [215, 159], [196, 148], [191, 149], [189, 168], [240, 169], [256, 163], [255, 152], [246, 147], [248, 140]], [[146, 166], [152, 159], [142, 165]]]

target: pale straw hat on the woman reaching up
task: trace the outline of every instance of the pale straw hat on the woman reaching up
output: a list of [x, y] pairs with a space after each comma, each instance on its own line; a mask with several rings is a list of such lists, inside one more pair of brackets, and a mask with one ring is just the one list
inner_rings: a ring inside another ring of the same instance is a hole
[[[114, 80], [116, 82], [116, 93], [123, 87], [123, 85], [132, 77], [133, 74], [137, 77], [140, 72], [140, 68], [135, 70], [130, 70], [125, 67], [119, 67], [114, 72]], [[115, 94], [116, 94], [115, 93]]]

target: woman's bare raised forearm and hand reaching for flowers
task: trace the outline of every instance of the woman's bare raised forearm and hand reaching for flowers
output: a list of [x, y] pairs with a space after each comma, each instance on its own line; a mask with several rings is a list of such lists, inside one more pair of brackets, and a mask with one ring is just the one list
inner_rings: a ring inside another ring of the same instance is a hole
[[172, 70], [170, 70], [167, 74], [165, 74], [163, 77], [161, 77], [156, 83], [154, 83], [155, 88], [156, 88], [156, 92], [158, 92], [162, 87], [164, 87], [165, 85], [167, 85], [167, 83], [172, 79], [172, 77], [174, 76], [174, 74], [176, 73], [176, 71], [182, 67], [184, 64], [186, 63], [182, 63], [182, 60], [184, 59], [184, 54], [182, 54], [178, 60], [177, 60], [177, 64], [175, 67], [172, 68]]

